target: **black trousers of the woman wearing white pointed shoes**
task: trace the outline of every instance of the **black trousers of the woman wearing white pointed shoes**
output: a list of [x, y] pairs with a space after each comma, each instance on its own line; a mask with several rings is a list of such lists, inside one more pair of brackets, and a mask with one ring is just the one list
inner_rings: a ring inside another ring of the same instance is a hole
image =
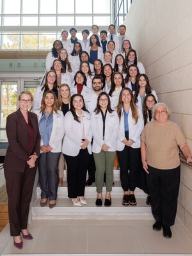
[[68, 197], [84, 196], [86, 170], [90, 157], [87, 148], [81, 149], [77, 156], [64, 154], [64, 157], [67, 162]]

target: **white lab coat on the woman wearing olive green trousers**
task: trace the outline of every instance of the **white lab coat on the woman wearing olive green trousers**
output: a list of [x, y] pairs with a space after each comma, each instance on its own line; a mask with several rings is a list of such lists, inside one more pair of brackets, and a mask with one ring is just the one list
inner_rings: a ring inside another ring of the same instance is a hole
[[101, 113], [97, 114], [92, 112], [91, 127], [93, 134], [93, 153], [99, 153], [102, 150], [102, 145], [109, 146], [108, 151], [116, 151], [116, 139], [119, 129], [118, 115], [116, 111], [107, 113], [105, 122], [105, 136], [103, 140], [103, 121]]

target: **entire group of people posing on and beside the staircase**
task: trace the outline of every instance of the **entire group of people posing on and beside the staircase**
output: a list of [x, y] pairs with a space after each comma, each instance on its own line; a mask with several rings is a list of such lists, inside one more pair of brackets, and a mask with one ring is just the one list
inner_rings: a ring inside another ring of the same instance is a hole
[[[120, 25], [100, 31], [62, 31], [47, 54], [47, 74], [34, 95], [22, 92], [19, 109], [8, 116], [8, 150], [4, 175], [14, 244], [33, 239], [28, 232], [29, 202], [38, 166], [40, 205], [56, 205], [58, 186], [67, 166], [68, 197], [86, 205], [85, 186], [96, 181], [95, 204], [111, 205], [113, 164], [117, 154], [122, 204], [136, 205], [134, 190], [143, 189], [156, 220], [154, 230], [171, 237], [179, 193], [179, 148], [188, 162], [191, 154], [179, 125], [168, 120], [170, 110], [157, 103], [143, 64]], [[33, 112], [28, 109], [33, 106]], [[179, 147], [178, 147], [179, 146]], [[37, 164], [38, 159], [38, 164]], [[86, 173], [88, 171], [88, 180]], [[105, 180], [104, 180], [105, 176]]]

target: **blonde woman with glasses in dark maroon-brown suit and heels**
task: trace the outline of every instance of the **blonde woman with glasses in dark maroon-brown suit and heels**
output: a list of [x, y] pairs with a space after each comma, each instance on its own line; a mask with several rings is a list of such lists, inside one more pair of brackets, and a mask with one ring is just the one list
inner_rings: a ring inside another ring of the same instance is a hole
[[37, 117], [28, 111], [33, 102], [30, 92], [19, 95], [19, 109], [8, 115], [6, 134], [8, 149], [4, 159], [4, 177], [8, 193], [10, 234], [15, 247], [22, 248], [22, 239], [33, 239], [28, 232], [29, 203], [33, 191], [40, 154], [40, 133]]

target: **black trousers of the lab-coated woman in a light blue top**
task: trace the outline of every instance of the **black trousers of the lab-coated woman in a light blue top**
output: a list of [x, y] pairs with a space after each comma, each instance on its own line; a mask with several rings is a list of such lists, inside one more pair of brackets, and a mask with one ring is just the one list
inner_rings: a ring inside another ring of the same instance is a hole
[[138, 172], [141, 168], [140, 148], [127, 147], [117, 151], [120, 166], [120, 180], [124, 191], [134, 191], [137, 184]]

